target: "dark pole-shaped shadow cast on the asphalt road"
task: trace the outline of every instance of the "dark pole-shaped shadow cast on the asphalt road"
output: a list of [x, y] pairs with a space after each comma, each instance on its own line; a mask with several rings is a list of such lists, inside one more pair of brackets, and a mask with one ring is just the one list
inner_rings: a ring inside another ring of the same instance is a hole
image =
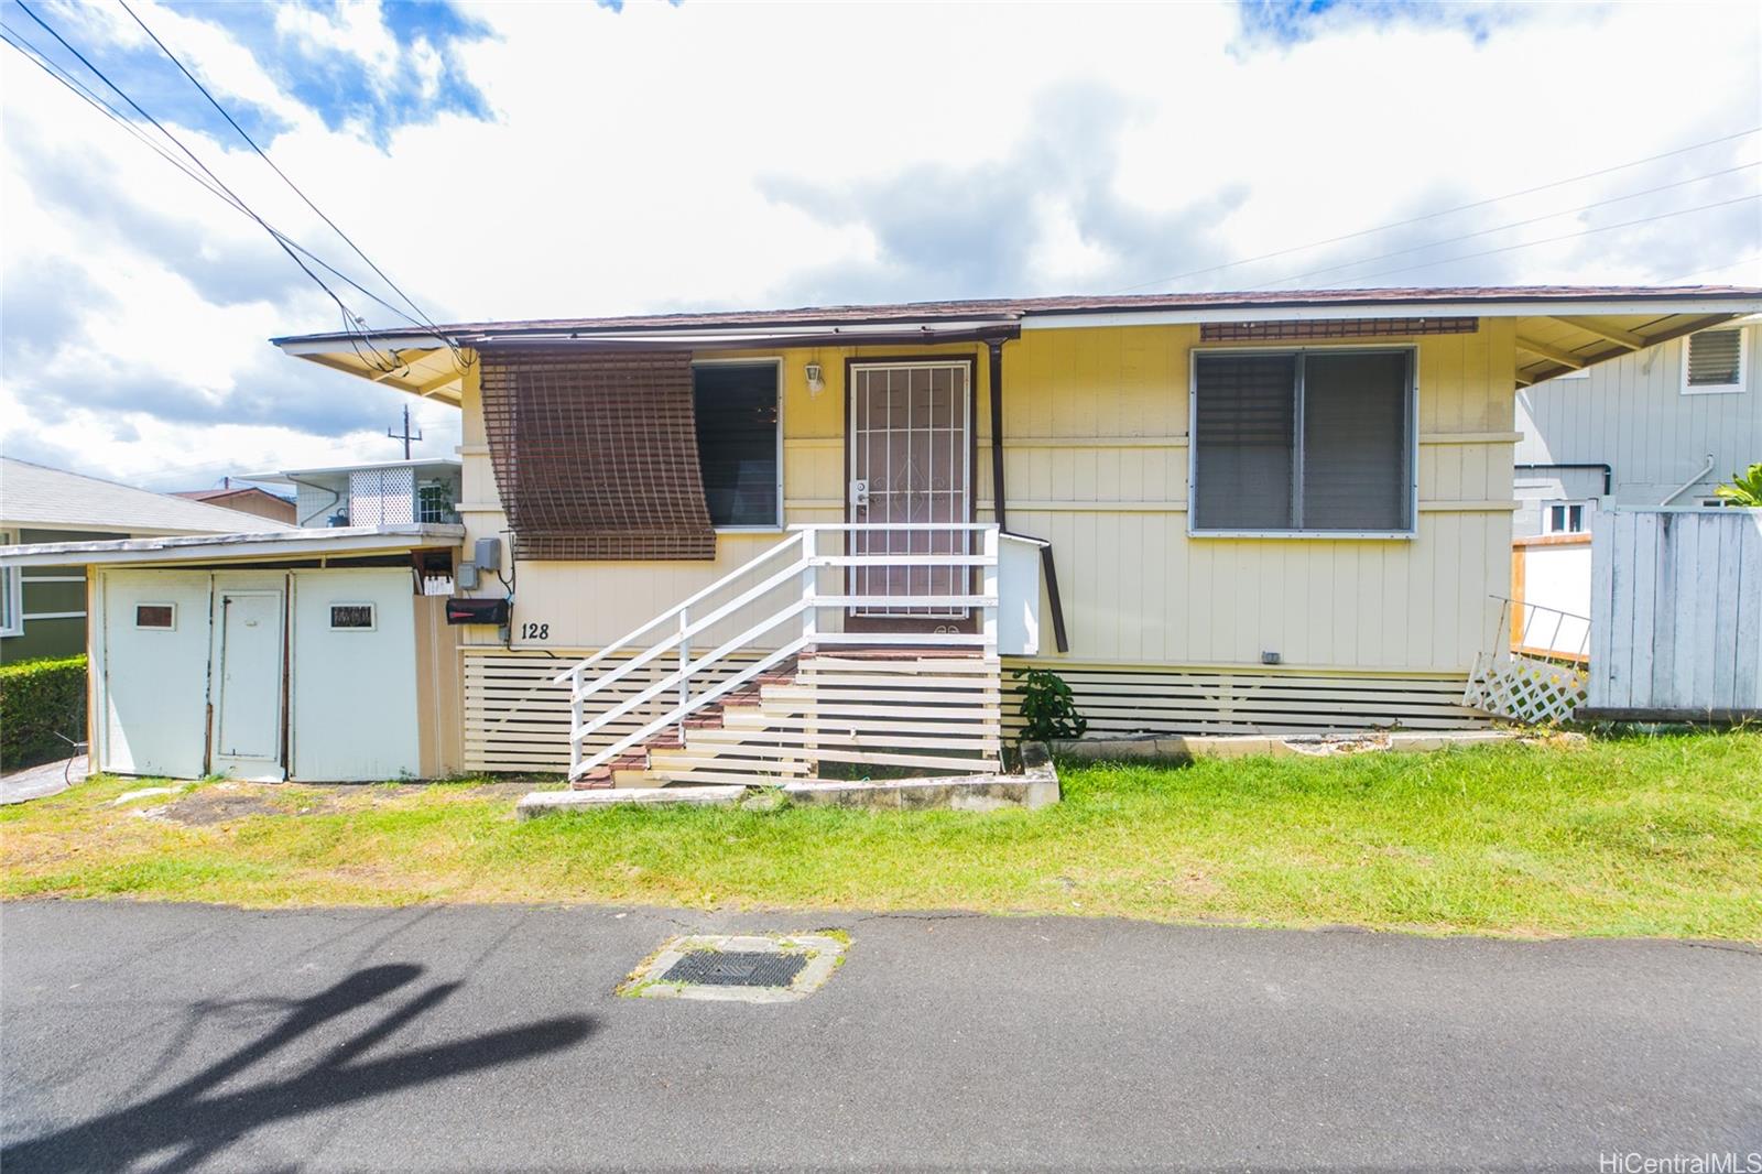
[[174, 1088], [7, 1146], [0, 1151], [0, 1167], [9, 1172], [115, 1170], [152, 1155], [157, 1169], [187, 1170], [264, 1125], [555, 1052], [581, 1042], [596, 1026], [585, 1015], [560, 1015], [379, 1059], [359, 1059], [460, 987], [446, 982], [388, 1008], [379, 1022], [329, 1049], [296, 1075], [236, 1091], [213, 1091], [328, 1021], [389, 998], [421, 973], [421, 966], [409, 964], [358, 970], [328, 991], [287, 1003], [287, 1014], [277, 1026]]

